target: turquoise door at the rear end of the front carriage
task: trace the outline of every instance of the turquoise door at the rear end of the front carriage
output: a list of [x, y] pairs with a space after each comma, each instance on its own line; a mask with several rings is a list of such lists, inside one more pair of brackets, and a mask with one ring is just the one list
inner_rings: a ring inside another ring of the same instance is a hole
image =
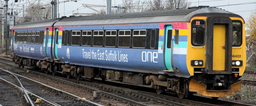
[[58, 37], [59, 37], [59, 29], [55, 28], [54, 40], [53, 40], [53, 51], [54, 51], [53, 56], [55, 59], [59, 59], [59, 57], [58, 57], [58, 45], [59, 45]]

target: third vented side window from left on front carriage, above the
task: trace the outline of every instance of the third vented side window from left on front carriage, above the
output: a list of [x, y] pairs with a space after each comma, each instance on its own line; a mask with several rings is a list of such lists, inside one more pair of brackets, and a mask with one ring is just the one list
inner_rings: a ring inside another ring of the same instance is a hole
[[103, 46], [103, 31], [93, 31], [93, 46]]

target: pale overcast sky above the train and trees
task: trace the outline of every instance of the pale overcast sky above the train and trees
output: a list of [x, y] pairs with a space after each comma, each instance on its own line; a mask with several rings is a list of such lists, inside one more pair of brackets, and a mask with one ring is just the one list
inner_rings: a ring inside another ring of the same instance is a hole
[[[2, 3], [4, 0], [0, 0]], [[14, 0], [9, 0], [10, 3], [13, 3]], [[27, 2], [27, 6], [29, 6], [29, 2], [42, 2], [42, 3], [50, 3], [52, 0], [19, 0], [19, 6], [22, 6], [22, 3]], [[83, 4], [90, 5], [106, 5], [106, 0], [57, 0], [59, 1], [59, 14], [61, 16], [70, 16], [74, 15], [72, 13], [92, 13], [94, 10], [89, 9], [88, 7], [83, 6]], [[66, 1], [64, 3], [64, 1]], [[143, 0], [142, 0], [143, 1]], [[147, 1], [147, 0], [145, 0]], [[165, 0], [163, 0], [165, 1]], [[221, 9], [225, 9], [229, 12], [233, 12], [238, 14], [244, 18], [245, 21], [250, 17], [251, 12], [256, 11], [256, 0], [188, 0], [191, 2], [190, 6], [210, 6], [210, 7], [218, 7]], [[1, 3], [0, 3], [1, 4]], [[18, 3], [15, 3], [18, 4]], [[118, 4], [122, 4], [122, 0], [112, 0], [112, 6], [117, 6]], [[26, 4], [25, 4], [26, 6]], [[64, 10], [65, 7], [65, 10]], [[14, 7], [15, 8], [15, 7]], [[17, 7], [22, 8], [22, 7]], [[102, 7], [92, 7], [96, 10], [99, 10]], [[20, 13], [19, 15], [22, 15]]]

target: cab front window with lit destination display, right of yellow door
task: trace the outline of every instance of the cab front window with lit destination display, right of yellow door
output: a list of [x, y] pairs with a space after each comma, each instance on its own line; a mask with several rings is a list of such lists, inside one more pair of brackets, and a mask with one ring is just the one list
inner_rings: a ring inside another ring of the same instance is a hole
[[233, 29], [232, 29], [232, 32], [233, 32], [233, 37], [232, 37], [232, 46], [241, 46], [242, 45], [242, 22], [241, 21], [233, 21], [232, 24], [233, 24]]

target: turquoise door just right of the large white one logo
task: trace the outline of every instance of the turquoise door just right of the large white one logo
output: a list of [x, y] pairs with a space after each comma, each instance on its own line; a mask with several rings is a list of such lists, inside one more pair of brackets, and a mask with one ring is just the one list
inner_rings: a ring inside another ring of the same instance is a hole
[[165, 28], [165, 45], [164, 45], [164, 62], [167, 70], [173, 70], [171, 64], [171, 49], [172, 49], [172, 25], [167, 25]]

